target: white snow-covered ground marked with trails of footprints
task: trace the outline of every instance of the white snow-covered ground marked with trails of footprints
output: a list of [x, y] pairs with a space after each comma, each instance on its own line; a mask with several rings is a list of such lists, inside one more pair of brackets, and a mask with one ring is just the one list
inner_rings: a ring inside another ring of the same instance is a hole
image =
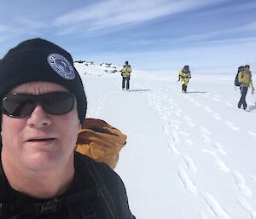
[[251, 111], [244, 112], [236, 107], [234, 75], [191, 72], [189, 92], [182, 94], [177, 74], [135, 71], [127, 92], [119, 73], [76, 66], [88, 97], [87, 117], [128, 135], [115, 171], [137, 219], [256, 219], [251, 89]]

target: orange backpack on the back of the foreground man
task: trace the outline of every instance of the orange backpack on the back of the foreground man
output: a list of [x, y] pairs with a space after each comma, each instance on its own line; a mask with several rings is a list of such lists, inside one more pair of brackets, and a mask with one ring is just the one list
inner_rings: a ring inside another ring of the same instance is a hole
[[115, 168], [127, 136], [101, 119], [86, 118], [75, 150]]

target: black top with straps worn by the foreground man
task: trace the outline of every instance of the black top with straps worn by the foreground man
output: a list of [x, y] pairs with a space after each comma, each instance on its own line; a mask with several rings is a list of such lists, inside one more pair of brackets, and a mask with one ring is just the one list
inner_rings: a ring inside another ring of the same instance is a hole
[[0, 219], [135, 219], [125, 186], [107, 164], [75, 153], [75, 176], [60, 197], [35, 199], [10, 187], [0, 164]]

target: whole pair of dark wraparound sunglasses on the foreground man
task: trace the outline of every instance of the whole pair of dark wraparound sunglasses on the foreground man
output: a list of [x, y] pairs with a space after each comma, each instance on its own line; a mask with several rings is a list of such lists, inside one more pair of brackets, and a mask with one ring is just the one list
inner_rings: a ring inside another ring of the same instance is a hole
[[52, 92], [44, 95], [10, 94], [2, 100], [3, 113], [12, 118], [27, 117], [40, 104], [44, 112], [62, 115], [76, 107], [76, 98], [69, 92]]

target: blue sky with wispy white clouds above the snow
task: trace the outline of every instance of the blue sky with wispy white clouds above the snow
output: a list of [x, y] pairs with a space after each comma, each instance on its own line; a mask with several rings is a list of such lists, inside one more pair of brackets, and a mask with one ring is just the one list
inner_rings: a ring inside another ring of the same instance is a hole
[[43, 37], [74, 60], [139, 70], [256, 72], [255, 0], [0, 0], [0, 57]]

